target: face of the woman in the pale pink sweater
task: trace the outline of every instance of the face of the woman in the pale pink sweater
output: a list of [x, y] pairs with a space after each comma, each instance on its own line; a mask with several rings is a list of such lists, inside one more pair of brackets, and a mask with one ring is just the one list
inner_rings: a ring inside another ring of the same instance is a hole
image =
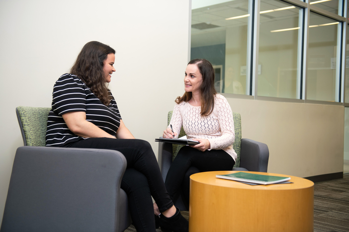
[[195, 94], [202, 84], [202, 75], [196, 64], [188, 64], [185, 69], [184, 90]]

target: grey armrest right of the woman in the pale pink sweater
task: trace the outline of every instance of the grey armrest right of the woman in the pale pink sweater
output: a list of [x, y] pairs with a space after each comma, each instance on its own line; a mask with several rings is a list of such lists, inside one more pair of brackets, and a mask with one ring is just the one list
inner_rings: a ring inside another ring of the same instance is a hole
[[269, 149], [267, 144], [252, 139], [241, 139], [240, 167], [253, 172], [267, 172]]

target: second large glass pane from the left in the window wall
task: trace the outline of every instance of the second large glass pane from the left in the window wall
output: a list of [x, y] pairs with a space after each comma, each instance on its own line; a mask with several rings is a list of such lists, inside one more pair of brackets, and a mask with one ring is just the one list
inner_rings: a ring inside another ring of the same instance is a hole
[[278, 0], [261, 0], [258, 96], [297, 98], [300, 9]]

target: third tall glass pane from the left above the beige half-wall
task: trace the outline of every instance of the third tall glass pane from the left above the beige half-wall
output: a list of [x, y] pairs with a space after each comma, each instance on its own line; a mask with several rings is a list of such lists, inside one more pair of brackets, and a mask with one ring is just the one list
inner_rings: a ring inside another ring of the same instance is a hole
[[336, 100], [338, 22], [310, 13], [307, 99]]

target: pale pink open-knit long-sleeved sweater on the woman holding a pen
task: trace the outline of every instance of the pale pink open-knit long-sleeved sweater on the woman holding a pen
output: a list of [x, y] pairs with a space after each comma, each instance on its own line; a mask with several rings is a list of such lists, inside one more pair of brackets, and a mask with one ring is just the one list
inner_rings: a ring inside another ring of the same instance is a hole
[[222, 149], [236, 160], [237, 155], [232, 145], [235, 140], [233, 114], [227, 100], [222, 95], [216, 94], [213, 112], [203, 117], [200, 112], [200, 106], [194, 107], [187, 102], [174, 106], [170, 124], [177, 133], [175, 138], [183, 126], [188, 139], [205, 138], [211, 145], [208, 150]]

